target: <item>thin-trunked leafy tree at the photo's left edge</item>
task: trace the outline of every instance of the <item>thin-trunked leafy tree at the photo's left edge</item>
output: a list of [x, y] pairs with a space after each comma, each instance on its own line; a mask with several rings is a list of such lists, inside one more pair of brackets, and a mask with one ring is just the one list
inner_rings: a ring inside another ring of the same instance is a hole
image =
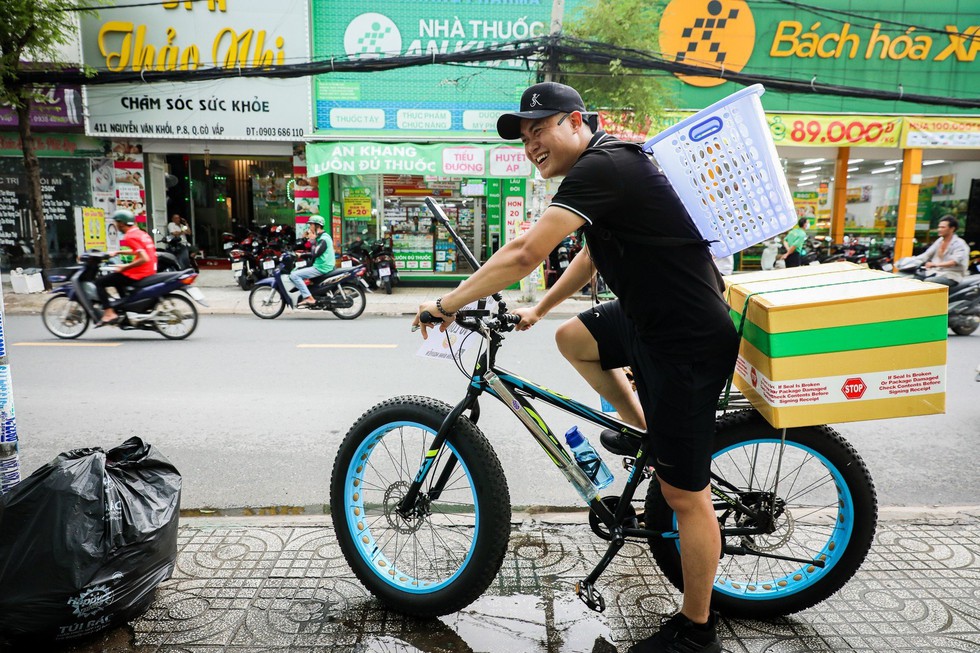
[[[47, 227], [41, 203], [41, 166], [31, 135], [30, 110], [35, 87], [21, 82], [25, 68], [44, 62], [57, 66], [59, 48], [77, 37], [76, 16], [91, 11], [95, 0], [7, 0], [0, 21], [0, 103], [17, 112], [17, 126], [27, 173], [28, 206], [34, 220], [34, 255], [51, 267]], [[77, 64], [75, 64], [77, 65]], [[50, 288], [47, 278], [46, 288]]]

